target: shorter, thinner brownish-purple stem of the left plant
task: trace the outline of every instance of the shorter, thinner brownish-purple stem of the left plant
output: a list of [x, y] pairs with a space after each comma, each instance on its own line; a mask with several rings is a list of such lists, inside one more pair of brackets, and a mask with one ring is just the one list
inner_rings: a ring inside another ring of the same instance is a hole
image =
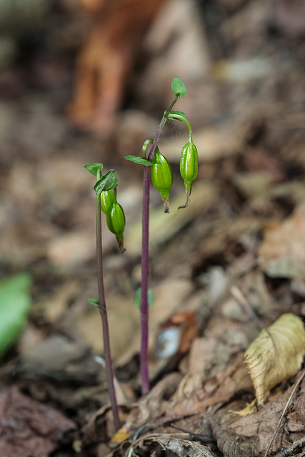
[[[99, 181], [99, 173], [96, 176], [96, 181]], [[99, 313], [101, 315], [101, 326], [104, 339], [104, 357], [106, 361], [106, 380], [109, 390], [109, 398], [114, 414], [114, 427], [119, 430], [121, 421], [119, 419], [119, 408], [116, 402], [116, 391], [114, 389], [114, 369], [112, 366], [109, 325], [105, 301], [105, 289], [103, 278], [103, 251], [101, 238], [101, 194], [96, 192], [96, 261], [97, 261], [97, 283], [99, 288]]]

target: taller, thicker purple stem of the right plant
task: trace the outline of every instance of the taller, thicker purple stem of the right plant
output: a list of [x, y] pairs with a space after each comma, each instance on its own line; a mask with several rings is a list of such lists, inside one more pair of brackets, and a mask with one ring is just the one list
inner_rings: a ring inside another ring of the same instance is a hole
[[[178, 97], [171, 102], [169, 109], [165, 111], [159, 124], [159, 129], [154, 137], [148, 159], [152, 161], [156, 144], [159, 141], [161, 131], [173, 108]], [[148, 143], [149, 144], [148, 140]], [[145, 159], [145, 157], [144, 157]], [[141, 390], [142, 395], [149, 392], [149, 187], [150, 187], [150, 169], [144, 166], [143, 176], [143, 208], [142, 208], [142, 259], [141, 259], [141, 353], [140, 353], [140, 371], [141, 371]]]

